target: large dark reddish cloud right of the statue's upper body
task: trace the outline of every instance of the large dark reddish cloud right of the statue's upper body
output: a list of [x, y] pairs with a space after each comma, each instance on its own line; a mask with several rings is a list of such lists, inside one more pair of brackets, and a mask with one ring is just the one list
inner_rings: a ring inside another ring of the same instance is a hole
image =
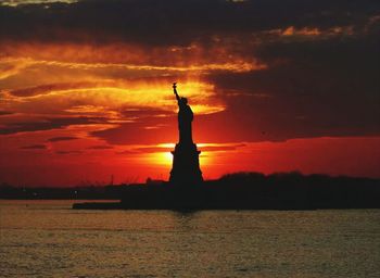
[[379, 135], [379, 38], [371, 30], [261, 46], [255, 51], [267, 70], [208, 76], [229, 104], [225, 124], [245, 127], [240, 137], [250, 140]]

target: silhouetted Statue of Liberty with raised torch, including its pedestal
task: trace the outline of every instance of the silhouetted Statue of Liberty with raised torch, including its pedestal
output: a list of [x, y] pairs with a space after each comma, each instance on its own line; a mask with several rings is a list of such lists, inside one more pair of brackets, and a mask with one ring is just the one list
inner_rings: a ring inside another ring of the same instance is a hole
[[170, 170], [172, 184], [194, 185], [203, 181], [199, 164], [200, 151], [192, 141], [191, 123], [193, 113], [186, 98], [180, 98], [177, 92], [177, 85], [173, 84], [174, 93], [178, 102], [178, 131], [179, 142], [176, 144], [173, 154], [173, 168]]

